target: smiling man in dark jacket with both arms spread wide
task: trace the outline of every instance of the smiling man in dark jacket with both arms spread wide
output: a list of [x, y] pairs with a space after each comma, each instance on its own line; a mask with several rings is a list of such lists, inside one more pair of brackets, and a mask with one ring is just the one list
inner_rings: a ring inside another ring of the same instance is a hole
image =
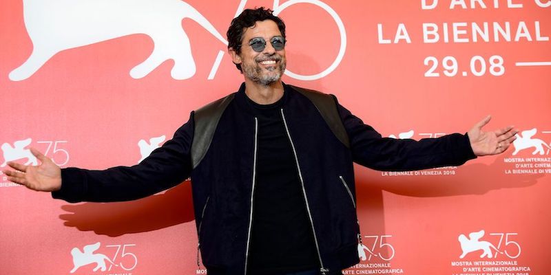
[[[383, 138], [334, 96], [285, 85], [285, 25], [245, 10], [227, 32], [239, 91], [191, 112], [141, 164], [60, 169], [10, 162], [8, 178], [66, 201], [124, 201], [191, 176], [202, 261], [209, 274], [340, 274], [358, 263], [353, 162], [379, 170], [460, 165], [503, 153], [512, 126], [437, 139]], [[297, 273], [298, 272], [298, 273]]]

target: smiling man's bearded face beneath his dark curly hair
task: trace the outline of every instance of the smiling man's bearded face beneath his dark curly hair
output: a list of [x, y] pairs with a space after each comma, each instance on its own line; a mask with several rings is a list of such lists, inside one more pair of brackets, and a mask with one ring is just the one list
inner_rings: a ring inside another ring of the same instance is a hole
[[[285, 50], [275, 50], [271, 40], [281, 36], [278, 25], [271, 20], [257, 21], [256, 25], [247, 28], [243, 34], [241, 53], [232, 52], [233, 62], [241, 64], [245, 78], [262, 85], [270, 85], [281, 79], [285, 66]], [[262, 52], [255, 52], [249, 45], [253, 39], [262, 38], [266, 47]]]

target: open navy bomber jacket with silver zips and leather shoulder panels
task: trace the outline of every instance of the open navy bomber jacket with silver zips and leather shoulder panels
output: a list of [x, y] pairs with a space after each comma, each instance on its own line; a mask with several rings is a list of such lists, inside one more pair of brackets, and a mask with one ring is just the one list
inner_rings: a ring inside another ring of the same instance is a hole
[[[322, 274], [359, 262], [353, 162], [376, 170], [418, 170], [457, 166], [475, 158], [467, 135], [420, 141], [382, 137], [334, 96], [289, 85], [284, 90], [288, 94], [280, 113], [295, 155]], [[191, 112], [171, 140], [136, 166], [64, 168], [61, 190], [52, 196], [70, 202], [127, 201], [191, 177], [203, 264], [209, 274], [247, 274], [258, 124], [245, 97], [242, 85], [238, 92], [214, 102], [221, 106], [218, 117], [209, 121], [211, 134], [201, 132], [200, 138], [197, 133], [205, 128], [197, 122], [200, 111]], [[315, 97], [331, 98], [334, 114], [315, 104]]]

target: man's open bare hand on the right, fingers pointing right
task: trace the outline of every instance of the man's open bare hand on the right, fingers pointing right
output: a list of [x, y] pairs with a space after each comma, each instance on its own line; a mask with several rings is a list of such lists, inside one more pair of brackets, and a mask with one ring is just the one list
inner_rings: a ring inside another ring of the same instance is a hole
[[507, 126], [503, 129], [489, 132], [483, 131], [482, 127], [488, 124], [491, 118], [488, 115], [468, 131], [472, 152], [477, 156], [497, 155], [505, 152], [517, 138], [515, 135], [519, 133], [519, 130], [514, 129], [514, 126]]

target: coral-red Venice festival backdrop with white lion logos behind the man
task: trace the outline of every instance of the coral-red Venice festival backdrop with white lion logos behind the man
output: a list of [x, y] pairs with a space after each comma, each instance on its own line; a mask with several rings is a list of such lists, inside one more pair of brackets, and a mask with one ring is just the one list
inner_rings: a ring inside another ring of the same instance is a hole
[[[551, 1], [8, 0], [0, 166], [134, 165], [189, 112], [238, 89], [225, 32], [243, 8], [287, 23], [284, 81], [335, 94], [382, 135], [521, 133], [459, 167], [357, 166], [360, 263], [344, 274], [550, 274]], [[315, 138], [315, 137], [312, 137]], [[66, 203], [0, 175], [0, 274], [205, 274], [191, 188]]]

